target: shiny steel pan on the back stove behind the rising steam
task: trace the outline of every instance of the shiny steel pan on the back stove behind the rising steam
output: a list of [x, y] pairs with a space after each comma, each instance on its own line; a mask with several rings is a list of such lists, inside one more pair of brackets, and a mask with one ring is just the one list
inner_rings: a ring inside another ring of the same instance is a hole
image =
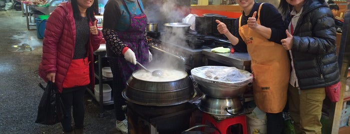
[[174, 23], [165, 23], [165, 32], [166, 33], [187, 33], [190, 29], [191, 24], [188, 23], [180, 23], [180, 22], [174, 22]]

